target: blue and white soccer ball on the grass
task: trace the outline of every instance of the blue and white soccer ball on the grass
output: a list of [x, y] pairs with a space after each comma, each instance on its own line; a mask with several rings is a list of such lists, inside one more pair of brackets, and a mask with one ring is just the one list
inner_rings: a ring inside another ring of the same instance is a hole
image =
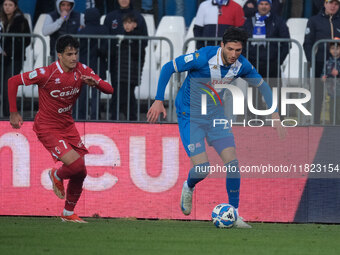
[[237, 220], [235, 208], [230, 204], [216, 205], [211, 218], [217, 228], [232, 228]]

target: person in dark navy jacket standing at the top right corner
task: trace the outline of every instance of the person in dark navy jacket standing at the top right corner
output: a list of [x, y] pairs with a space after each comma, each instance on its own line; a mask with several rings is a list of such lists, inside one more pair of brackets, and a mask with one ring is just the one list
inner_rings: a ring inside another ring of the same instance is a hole
[[[340, 37], [340, 15], [339, 15], [339, 4], [340, 0], [326, 0], [324, 7], [320, 12], [309, 18], [305, 40], [303, 43], [303, 48], [306, 53], [307, 61], [310, 63], [312, 61], [312, 47], [315, 42], [321, 39], [332, 39], [334, 37]], [[319, 44], [315, 60], [315, 77], [320, 78], [325, 64], [325, 60], [328, 57], [329, 51], [326, 51], [326, 56], [324, 55], [325, 49], [324, 44]], [[326, 45], [327, 46], [327, 45]], [[312, 91], [315, 95], [314, 103], [314, 123], [320, 124], [321, 107], [323, 101], [323, 85], [320, 79], [315, 80], [315, 90]]]

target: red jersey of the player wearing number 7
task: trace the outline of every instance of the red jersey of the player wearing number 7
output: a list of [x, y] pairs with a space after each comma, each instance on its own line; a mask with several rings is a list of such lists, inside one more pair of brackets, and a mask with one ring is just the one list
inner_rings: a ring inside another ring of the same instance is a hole
[[92, 76], [100, 81], [98, 88], [103, 92], [113, 92], [110, 84], [102, 81], [90, 67], [79, 62], [69, 72], [65, 72], [57, 61], [47, 67], [21, 74], [22, 84], [38, 85], [39, 111], [34, 120], [34, 131], [65, 131], [74, 124], [72, 107], [80, 94], [81, 87], [86, 86], [80, 78], [81, 75]]

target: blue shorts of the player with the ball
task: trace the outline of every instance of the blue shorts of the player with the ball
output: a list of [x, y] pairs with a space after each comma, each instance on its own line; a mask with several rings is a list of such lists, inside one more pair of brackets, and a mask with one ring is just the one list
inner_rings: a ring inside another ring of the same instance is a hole
[[[200, 116], [199, 118], [189, 117], [187, 113], [177, 113], [179, 133], [182, 139], [182, 143], [185, 151], [189, 157], [198, 155], [205, 152], [206, 138], [208, 145], [215, 141], [221, 140], [223, 142], [222, 147], [229, 148], [235, 147], [234, 135], [229, 125], [215, 125], [214, 119], [225, 119], [223, 113], [212, 117]], [[218, 144], [218, 143], [217, 143]], [[221, 144], [218, 144], [218, 152], [221, 150]]]

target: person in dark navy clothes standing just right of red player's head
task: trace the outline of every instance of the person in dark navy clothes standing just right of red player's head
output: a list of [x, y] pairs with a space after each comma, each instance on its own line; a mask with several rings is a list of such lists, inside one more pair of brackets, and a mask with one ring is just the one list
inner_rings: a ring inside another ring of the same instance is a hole
[[[85, 27], [81, 29], [78, 34], [98, 36], [107, 35], [106, 27], [100, 25], [100, 13], [97, 8], [86, 9], [84, 18]], [[105, 79], [107, 70], [107, 40], [101, 39], [99, 41], [98, 39], [90, 39], [90, 44], [88, 42], [87, 38], [80, 39], [79, 61], [91, 67], [95, 73], [99, 74], [102, 79]], [[89, 88], [87, 86], [83, 87], [79, 95], [78, 102], [74, 106], [73, 118], [78, 120], [87, 120], [88, 114], [90, 113], [92, 120], [99, 119], [100, 111], [98, 111], [98, 109], [100, 106], [100, 98], [98, 96], [99, 91], [96, 88]], [[86, 107], [87, 105], [88, 107]]]

